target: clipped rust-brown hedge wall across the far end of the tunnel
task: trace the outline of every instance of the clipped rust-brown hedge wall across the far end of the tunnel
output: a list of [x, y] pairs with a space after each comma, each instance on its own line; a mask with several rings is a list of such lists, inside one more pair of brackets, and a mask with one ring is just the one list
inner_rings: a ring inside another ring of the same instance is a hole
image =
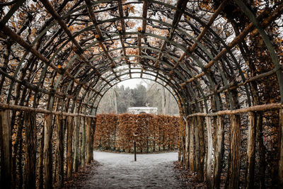
[[100, 114], [97, 116], [95, 148], [151, 152], [178, 149], [180, 117], [151, 114]]

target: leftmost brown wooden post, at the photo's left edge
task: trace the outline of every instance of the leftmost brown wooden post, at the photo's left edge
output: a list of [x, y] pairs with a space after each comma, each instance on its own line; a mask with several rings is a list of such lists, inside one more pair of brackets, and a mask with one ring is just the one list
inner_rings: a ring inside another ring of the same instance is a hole
[[11, 188], [11, 120], [10, 110], [0, 110], [1, 187]]

